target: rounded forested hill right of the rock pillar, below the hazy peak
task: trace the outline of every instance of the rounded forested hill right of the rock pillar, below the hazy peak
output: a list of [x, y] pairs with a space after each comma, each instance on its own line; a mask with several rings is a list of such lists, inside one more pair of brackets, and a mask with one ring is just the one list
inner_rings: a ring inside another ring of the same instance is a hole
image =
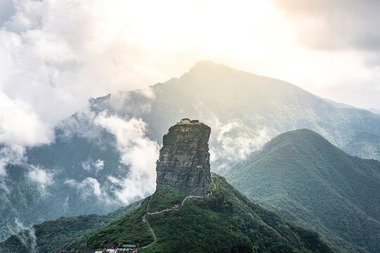
[[313, 131], [280, 134], [227, 180], [338, 252], [380, 250], [380, 162], [347, 155]]

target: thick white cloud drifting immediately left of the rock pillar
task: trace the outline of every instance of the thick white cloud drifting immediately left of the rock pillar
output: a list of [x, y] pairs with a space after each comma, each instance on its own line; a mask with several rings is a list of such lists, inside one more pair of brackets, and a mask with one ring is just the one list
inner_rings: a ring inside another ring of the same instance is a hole
[[116, 136], [122, 154], [121, 162], [130, 167], [125, 178], [108, 177], [110, 182], [119, 186], [119, 190], [115, 190], [119, 200], [128, 204], [153, 193], [156, 188], [158, 144], [146, 137], [146, 123], [141, 119], [126, 121], [120, 117], [107, 116], [105, 112], [96, 117], [94, 122]]

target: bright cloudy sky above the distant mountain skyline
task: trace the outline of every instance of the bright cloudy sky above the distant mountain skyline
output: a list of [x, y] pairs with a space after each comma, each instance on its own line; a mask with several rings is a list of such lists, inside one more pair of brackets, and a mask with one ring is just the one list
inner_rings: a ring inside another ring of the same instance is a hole
[[0, 143], [52, 140], [88, 98], [198, 60], [380, 108], [380, 1], [0, 0]]

